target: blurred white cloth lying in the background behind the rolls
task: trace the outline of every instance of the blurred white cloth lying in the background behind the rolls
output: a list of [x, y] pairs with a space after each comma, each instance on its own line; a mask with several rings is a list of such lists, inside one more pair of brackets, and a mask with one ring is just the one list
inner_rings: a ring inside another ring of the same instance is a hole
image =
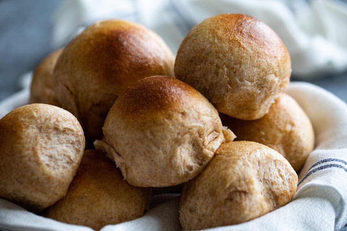
[[151, 28], [174, 53], [203, 19], [242, 13], [264, 21], [282, 38], [293, 74], [313, 79], [347, 70], [347, 5], [338, 0], [66, 0], [56, 14], [53, 48], [96, 20], [123, 18]]

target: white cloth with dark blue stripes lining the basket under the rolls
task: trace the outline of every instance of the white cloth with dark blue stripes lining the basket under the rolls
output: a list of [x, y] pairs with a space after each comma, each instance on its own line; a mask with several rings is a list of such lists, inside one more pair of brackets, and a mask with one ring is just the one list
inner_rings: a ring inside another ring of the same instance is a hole
[[[316, 148], [299, 174], [293, 200], [264, 216], [231, 226], [214, 228], [232, 230], [342, 230], [347, 223], [347, 105], [330, 92], [310, 83], [290, 83], [287, 93], [294, 97], [310, 117]], [[0, 103], [0, 113], [25, 104], [24, 90]], [[2, 116], [0, 115], [0, 117]], [[0, 176], [1, 177], [1, 176]], [[173, 195], [177, 196], [177, 195]], [[156, 196], [155, 202], [167, 202], [152, 208], [143, 217], [102, 231], [178, 231], [179, 197]], [[166, 198], [165, 198], [166, 197]], [[53, 221], [0, 199], [0, 230], [87, 231], [90, 228]], [[212, 229], [211, 229], [212, 230]]]

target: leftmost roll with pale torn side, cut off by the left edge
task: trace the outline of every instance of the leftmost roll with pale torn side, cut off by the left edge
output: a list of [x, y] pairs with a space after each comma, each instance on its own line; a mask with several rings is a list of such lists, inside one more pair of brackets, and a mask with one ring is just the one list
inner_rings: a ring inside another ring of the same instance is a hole
[[29, 104], [0, 119], [0, 197], [39, 212], [62, 198], [81, 161], [85, 140], [69, 112]]

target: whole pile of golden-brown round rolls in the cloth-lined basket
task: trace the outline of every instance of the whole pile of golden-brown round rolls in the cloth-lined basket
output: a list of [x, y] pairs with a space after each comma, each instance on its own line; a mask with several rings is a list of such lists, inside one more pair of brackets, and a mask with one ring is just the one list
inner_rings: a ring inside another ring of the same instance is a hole
[[283, 93], [290, 74], [279, 36], [247, 15], [205, 19], [176, 60], [141, 25], [97, 22], [40, 63], [31, 104], [0, 120], [0, 197], [95, 230], [181, 184], [184, 230], [264, 215], [290, 202], [314, 148]]

